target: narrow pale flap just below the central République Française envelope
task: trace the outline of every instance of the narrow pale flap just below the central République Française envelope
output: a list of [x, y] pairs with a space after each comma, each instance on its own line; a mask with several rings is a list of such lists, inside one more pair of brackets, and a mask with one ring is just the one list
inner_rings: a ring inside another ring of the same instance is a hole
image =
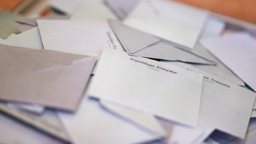
[[107, 110], [110, 110], [119, 116], [138, 124], [140, 127], [143, 127], [146, 130], [156, 133], [156, 135], [165, 136], [165, 130], [152, 114], [131, 110], [123, 105], [113, 104], [104, 100], [101, 100], [100, 104], [107, 108]]

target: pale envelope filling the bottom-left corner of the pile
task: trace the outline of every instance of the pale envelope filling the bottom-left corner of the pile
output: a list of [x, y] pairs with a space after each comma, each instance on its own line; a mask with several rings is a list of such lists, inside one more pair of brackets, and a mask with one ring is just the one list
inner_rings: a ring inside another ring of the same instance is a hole
[[64, 144], [0, 113], [0, 143]]

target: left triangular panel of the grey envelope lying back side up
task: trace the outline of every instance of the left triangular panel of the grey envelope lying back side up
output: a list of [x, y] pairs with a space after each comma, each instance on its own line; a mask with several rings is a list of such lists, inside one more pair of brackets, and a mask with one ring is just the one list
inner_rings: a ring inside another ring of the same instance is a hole
[[136, 53], [160, 40], [142, 31], [123, 25], [120, 21], [110, 20], [111, 28], [128, 53]]

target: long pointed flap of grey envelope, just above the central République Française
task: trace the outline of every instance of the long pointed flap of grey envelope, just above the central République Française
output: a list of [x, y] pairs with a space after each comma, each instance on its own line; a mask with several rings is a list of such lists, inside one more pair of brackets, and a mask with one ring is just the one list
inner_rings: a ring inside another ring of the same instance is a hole
[[196, 56], [193, 54], [193, 52], [187, 52], [183, 49], [178, 49], [165, 43], [154, 44], [146, 49], [134, 53], [133, 55], [163, 60], [178, 60], [181, 62], [200, 63], [204, 65], [215, 65], [215, 62]]

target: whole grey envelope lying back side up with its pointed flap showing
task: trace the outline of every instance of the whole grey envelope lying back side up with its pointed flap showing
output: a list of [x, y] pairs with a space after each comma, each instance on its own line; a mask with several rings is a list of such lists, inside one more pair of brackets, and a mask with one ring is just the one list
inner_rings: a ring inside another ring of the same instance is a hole
[[168, 41], [127, 27], [120, 21], [110, 20], [109, 24], [129, 55], [203, 65], [216, 64], [213, 60], [199, 55], [195, 50], [174, 47]]

